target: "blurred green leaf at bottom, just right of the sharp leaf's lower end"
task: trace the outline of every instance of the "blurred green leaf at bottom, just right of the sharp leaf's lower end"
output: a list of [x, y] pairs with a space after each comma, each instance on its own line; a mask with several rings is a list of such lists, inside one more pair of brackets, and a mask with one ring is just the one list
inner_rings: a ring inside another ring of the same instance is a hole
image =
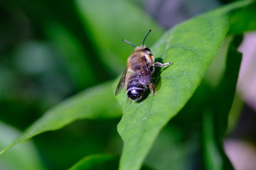
[[193, 158], [190, 156], [195, 155], [193, 152], [197, 148], [193, 140], [184, 137], [184, 131], [181, 128], [169, 123], [156, 138], [154, 146], [145, 159], [145, 164], [157, 170], [193, 169], [191, 168]]

